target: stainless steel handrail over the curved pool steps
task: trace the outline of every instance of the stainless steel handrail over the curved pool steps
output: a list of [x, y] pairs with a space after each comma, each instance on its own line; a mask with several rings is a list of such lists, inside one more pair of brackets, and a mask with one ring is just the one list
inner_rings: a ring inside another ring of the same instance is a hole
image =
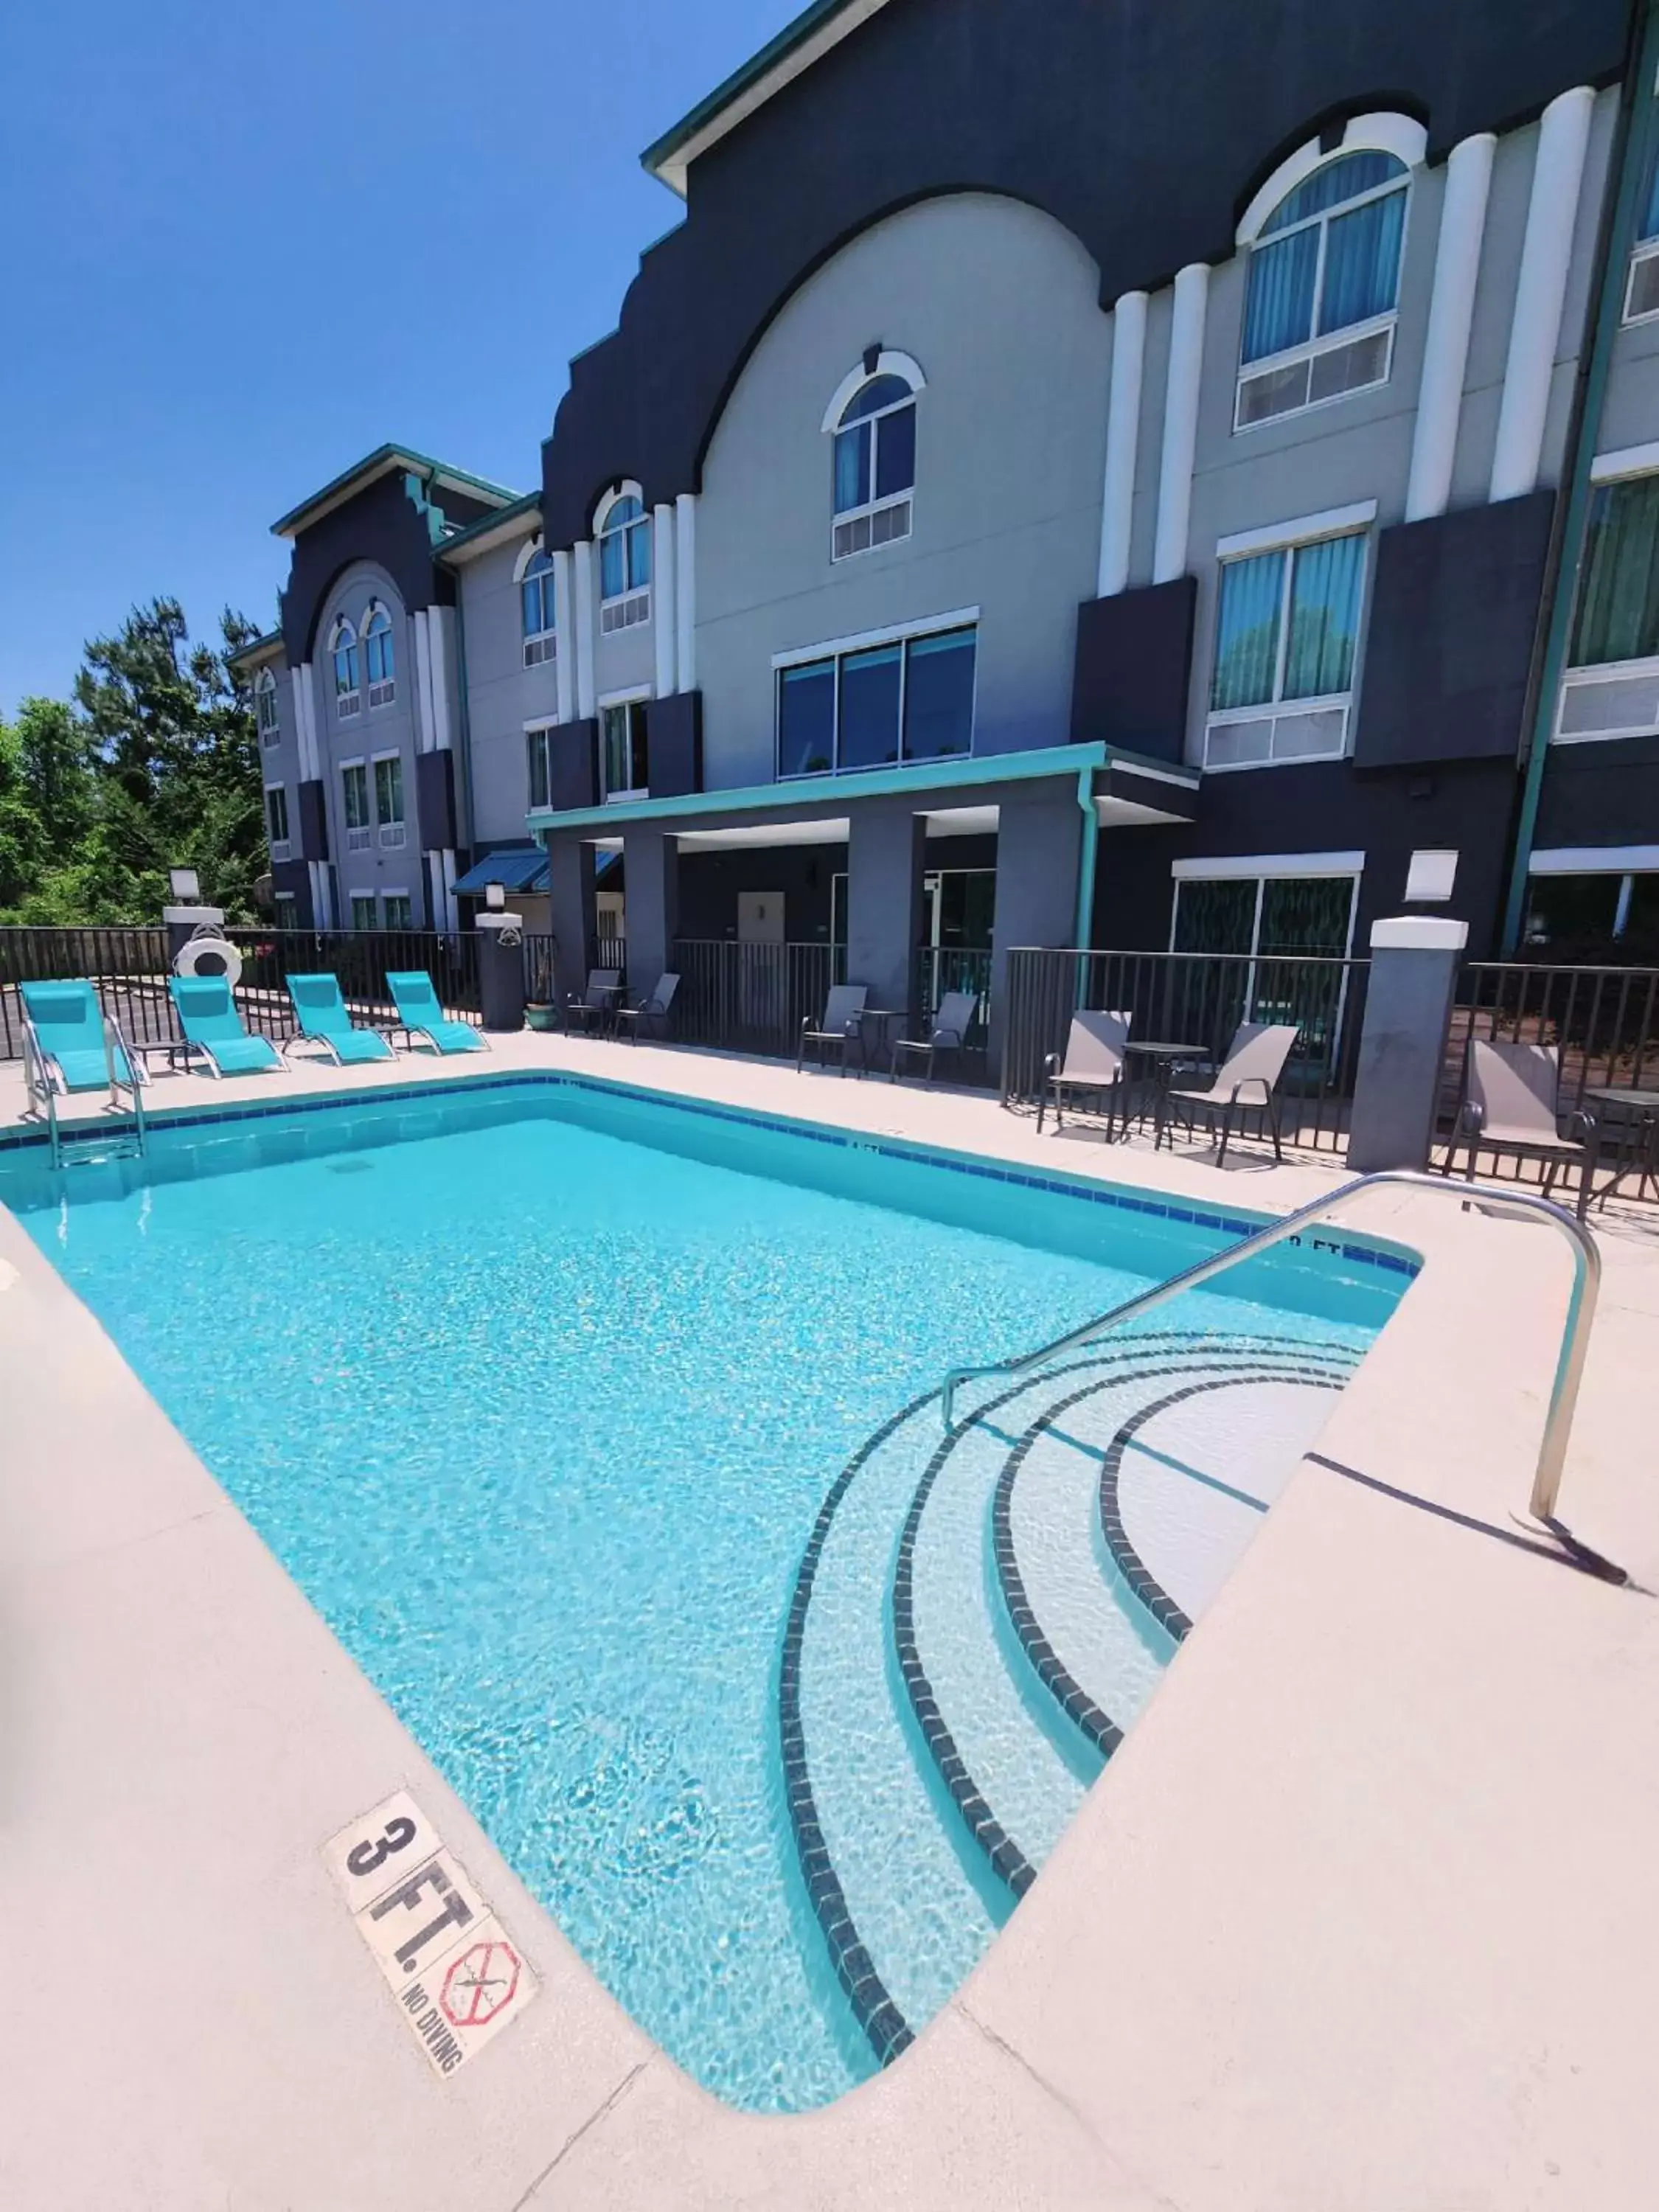
[[1553, 1520], [1555, 1500], [1562, 1489], [1562, 1467], [1566, 1464], [1566, 1438], [1573, 1429], [1573, 1409], [1577, 1407], [1579, 1378], [1584, 1374], [1584, 1352], [1590, 1340], [1595, 1301], [1601, 1287], [1601, 1254], [1595, 1237], [1564, 1206], [1557, 1206], [1553, 1199], [1537, 1197], [1531, 1190], [1491, 1190], [1482, 1183], [1449, 1183], [1444, 1177], [1422, 1175], [1418, 1168], [1380, 1168], [1374, 1175], [1356, 1175], [1352, 1183], [1343, 1183], [1338, 1190], [1329, 1190], [1323, 1199], [1312, 1199], [1307, 1206], [1298, 1206], [1296, 1212], [1283, 1214], [1279, 1221], [1267, 1221], [1265, 1228], [1259, 1228], [1252, 1237], [1241, 1237], [1239, 1243], [1228, 1245], [1223, 1252], [1212, 1252], [1208, 1259], [1194, 1261], [1194, 1265], [1183, 1267], [1181, 1274], [1172, 1274], [1166, 1283], [1155, 1283], [1152, 1290], [1144, 1290], [1137, 1296], [1126, 1298], [1121, 1305], [1110, 1307], [1106, 1314], [1097, 1314], [1093, 1321], [1086, 1321], [1079, 1329], [1071, 1329], [1066, 1336], [1055, 1336], [1053, 1343], [1040, 1345], [1037, 1352], [1026, 1352], [1013, 1360], [989, 1360], [982, 1367], [953, 1367], [940, 1387], [945, 1427], [953, 1427], [956, 1391], [962, 1383], [971, 1383], [978, 1376], [1020, 1376], [1029, 1374], [1033, 1367], [1044, 1367], [1048, 1360], [1093, 1343], [1108, 1329], [1117, 1329], [1126, 1321], [1135, 1321], [1139, 1314], [1150, 1314], [1157, 1305], [1168, 1305], [1168, 1301], [1179, 1298], [1183, 1290], [1197, 1290], [1199, 1283], [1208, 1283], [1223, 1270], [1234, 1267], [1241, 1259], [1252, 1259], [1256, 1252], [1265, 1252], [1270, 1245], [1283, 1243], [1283, 1239], [1294, 1237], [1296, 1230], [1307, 1228], [1314, 1221], [1325, 1221], [1349, 1199], [1358, 1197], [1360, 1190], [1380, 1190], [1389, 1183], [1405, 1190], [1438, 1192], [1442, 1199], [1455, 1197], [1462, 1206], [1482, 1206], [1486, 1212], [1540, 1217], [1553, 1223], [1573, 1245], [1573, 1296], [1566, 1307], [1562, 1354], [1555, 1363], [1555, 1387], [1551, 1389], [1548, 1416], [1544, 1418], [1544, 1440], [1537, 1449], [1537, 1471], [1533, 1473], [1531, 1495], [1533, 1517], [1540, 1522]]

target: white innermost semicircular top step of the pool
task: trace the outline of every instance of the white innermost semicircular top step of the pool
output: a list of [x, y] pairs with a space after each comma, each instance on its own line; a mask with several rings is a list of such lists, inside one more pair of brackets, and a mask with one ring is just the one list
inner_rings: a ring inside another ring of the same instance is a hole
[[[1126, 1557], [1197, 1621], [1239, 1564], [1332, 1411], [1338, 1376], [1283, 1374], [1166, 1385], [1113, 1438]], [[1104, 1471], [1104, 1467], [1102, 1467]]]

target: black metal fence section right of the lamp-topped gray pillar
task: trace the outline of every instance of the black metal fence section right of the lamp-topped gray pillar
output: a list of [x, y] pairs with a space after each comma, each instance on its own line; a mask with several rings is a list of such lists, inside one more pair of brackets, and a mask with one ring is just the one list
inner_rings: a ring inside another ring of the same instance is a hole
[[[1659, 1091], [1659, 969], [1467, 960], [1447, 1024], [1436, 1150], [1440, 1161], [1455, 1135], [1471, 1037], [1555, 1046], [1562, 1055], [1559, 1110], [1566, 1117], [1584, 1108], [1597, 1119], [1601, 1159], [1608, 1166], [1621, 1166], [1632, 1146], [1652, 1148], [1648, 1108], [1621, 1113], [1617, 1097], [1595, 1093]], [[1480, 1172], [1540, 1181], [1544, 1164], [1482, 1152]], [[1630, 1177], [1619, 1188], [1639, 1197], [1650, 1186]]]

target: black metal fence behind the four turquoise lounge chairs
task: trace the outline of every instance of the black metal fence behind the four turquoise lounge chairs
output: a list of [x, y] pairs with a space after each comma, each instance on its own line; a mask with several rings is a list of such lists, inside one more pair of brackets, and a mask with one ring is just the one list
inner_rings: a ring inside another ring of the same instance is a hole
[[[387, 971], [425, 969], [456, 1022], [478, 1022], [478, 940], [434, 929], [234, 929], [234, 1002], [248, 1029], [292, 1037], [288, 975], [330, 973], [361, 1026], [396, 1020]], [[84, 978], [135, 1051], [179, 1042], [166, 929], [0, 929], [0, 1060], [22, 1057], [18, 984]]]

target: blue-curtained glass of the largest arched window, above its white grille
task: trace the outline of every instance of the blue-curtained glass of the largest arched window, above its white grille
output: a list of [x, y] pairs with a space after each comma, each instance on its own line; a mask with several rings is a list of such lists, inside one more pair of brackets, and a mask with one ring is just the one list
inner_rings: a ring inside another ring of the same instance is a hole
[[1405, 199], [1405, 161], [1367, 150], [1338, 155], [1279, 201], [1250, 252], [1245, 363], [1398, 305]]

